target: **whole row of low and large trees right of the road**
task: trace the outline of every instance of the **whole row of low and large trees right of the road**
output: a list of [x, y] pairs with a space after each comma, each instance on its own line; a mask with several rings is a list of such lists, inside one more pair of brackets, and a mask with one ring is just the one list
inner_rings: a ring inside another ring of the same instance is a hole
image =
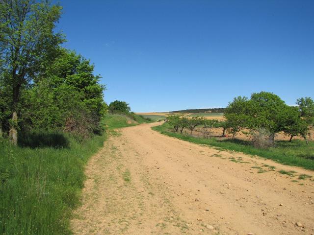
[[181, 134], [184, 128], [188, 128], [192, 134], [196, 126], [203, 126], [204, 136], [208, 137], [208, 128], [221, 127], [222, 137], [228, 132], [234, 139], [237, 133], [243, 132], [253, 137], [251, 139], [257, 141], [257, 145], [261, 144], [261, 138], [264, 145], [272, 145], [275, 134], [279, 132], [288, 135], [289, 141], [301, 136], [308, 143], [310, 129], [314, 125], [314, 101], [304, 97], [297, 99], [296, 106], [288, 106], [276, 94], [254, 93], [250, 99], [235, 97], [225, 109], [224, 117], [224, 121], [178, 115], [171, 115], [168, 119], [175, 131]]

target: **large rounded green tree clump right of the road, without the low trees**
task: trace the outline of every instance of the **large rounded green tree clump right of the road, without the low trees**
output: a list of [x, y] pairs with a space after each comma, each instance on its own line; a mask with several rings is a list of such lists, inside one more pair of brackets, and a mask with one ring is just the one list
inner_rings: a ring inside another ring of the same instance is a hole
[[[239, 131], [249, 130], [249, 133], [256, 134], [258, 130], [265, 130], [269, 133], [269, 140], [274, 143], [275, 134], [284, 131], [291, 137], [300, 135], [307, 141], [308, 125], [311, 121], [305, 122], [302, 118], [302, 109], [307, 117], [311, 117], [311, 99], [299, 99], [302, 103], [299, 111], [285, 104], [278, 95], [260, 92], [251, 95], [251, 98], [236, 97], [230, 102], [225, 110], [224, 116], [227, 120], [230, 132], [235, 137]], [[306, 103], [306, 104], [305, 104]], [[308, 118], [311, 120], [311, 118]], [[308, 142], [308, 141], [307, 141]]]

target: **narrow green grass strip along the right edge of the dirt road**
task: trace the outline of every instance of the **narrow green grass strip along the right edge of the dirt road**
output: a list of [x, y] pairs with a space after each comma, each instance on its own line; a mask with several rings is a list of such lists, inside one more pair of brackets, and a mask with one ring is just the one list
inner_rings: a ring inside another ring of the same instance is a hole
[[204, 139], [180, 135], [178, 133], [174, 133], [168, 123], [152, 127], [152, 129], [167, 136], [176, 137], [180, 140], [198, 144], [208, 144], [221, 149], [234, 150], [237, 152], [257, 155], [266, 159], [272, 159], [281, 164], [295, 165], [305, 169], [314, 170], [314, 141], [310, 141], [308, 145], [306, 145], [305, 141], [299, 140], [294, 140], [291, 143], [288, 141], [278, 141], [276, 142], [276, 147], [269, 149], [257, 149], [254, 148], [254, 146], [252, 146], [248, 141], [219, 141], [214, 138]]

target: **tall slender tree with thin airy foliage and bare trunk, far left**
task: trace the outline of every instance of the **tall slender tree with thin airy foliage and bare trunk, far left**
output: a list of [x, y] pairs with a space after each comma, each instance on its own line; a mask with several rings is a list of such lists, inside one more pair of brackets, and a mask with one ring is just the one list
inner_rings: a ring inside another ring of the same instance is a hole
[[63, 37], [53, 29], [61, 7], [43, 0], [0, 0], [0, 61], [12, 89], [10, 138], [17, 144], [21, 91], [56, 57]]

